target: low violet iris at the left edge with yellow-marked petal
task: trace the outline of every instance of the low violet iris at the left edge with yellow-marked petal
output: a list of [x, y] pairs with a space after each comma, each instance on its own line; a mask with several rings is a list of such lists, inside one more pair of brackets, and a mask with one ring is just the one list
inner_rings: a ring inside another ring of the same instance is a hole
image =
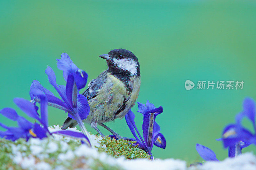
[[15, 98], [13, 101], [23, 112], [25, 112], [29, 117], [36, 119], [39, 123], [41, 123], [42, 126], [38, 123], [29, 122], [24, 117], [19, 116], [17, 112], [12, 108], [3, 108], [0, 110], [0, 113], [10, 120], [17, 121], [18, 127], [8, 127], [0, 122], [0, 126], [4, 129], [7, 129], [6, 131], [0, 131], [0, 137], [12, 141], [15, 141], [19, 138], [25, 138], [28, 141], [30, 137], [43, 139], [48, 135], [56, 133], [69, 137], [76, 137], [88, 143], [88, 138], [82, 133], [73, 132], [70, 130], [60, 130], [50, 133], [48, 130], [47, 98], [43, 94], [40, 95], [40, 99], [41, 118], [38, 116], [36, 108], [30, 101], [22, 98]]

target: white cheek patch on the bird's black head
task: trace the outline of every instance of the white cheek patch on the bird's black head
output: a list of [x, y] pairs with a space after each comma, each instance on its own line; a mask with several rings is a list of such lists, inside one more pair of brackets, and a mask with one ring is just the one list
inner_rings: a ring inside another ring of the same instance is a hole
[[113, 59], [114, 64], [120, 69], [127, 70], [132, 73], [132, 75], [137, 73], [137, 64], [134, 60], [123, 58], [123, 59]]

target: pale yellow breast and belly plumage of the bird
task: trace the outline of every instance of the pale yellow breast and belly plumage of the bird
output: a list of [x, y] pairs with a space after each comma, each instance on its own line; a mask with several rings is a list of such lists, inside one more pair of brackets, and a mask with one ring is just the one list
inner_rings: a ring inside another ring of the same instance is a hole
[[[138, 98], [140, 91], [140, 78], [132, 77], [129, 81], [129, 87], [132, 92], [129, 92], [124, 83], [115, 76], [108, 73], [107, 80], [98, 90], [95, 98], [88, 101], [90, 105], [90, 116], [98, 122], [108, 122], [115, 118], [123, 118], [124, 112], [128, 112]], [[116, 112], [123, 105], [124, 99], [127, 108], [116, 116]]]

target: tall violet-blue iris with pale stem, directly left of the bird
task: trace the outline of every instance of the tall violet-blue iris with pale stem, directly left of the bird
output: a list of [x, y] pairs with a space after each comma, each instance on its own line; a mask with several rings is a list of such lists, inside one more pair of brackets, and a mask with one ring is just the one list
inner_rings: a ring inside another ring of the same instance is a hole
[[[89, 115], [90, 107], [84, 95], [79, 94], [79, 90], [84, 88], [87, 83], [88, 75], [80, 70], [70, 59], [67, 53], [62, 53], [61, 58], [57, 59], [57, 67], [63, 70], [63, 77], [67, 82], [65, 85], [57, 85], [56, 76], [51, 67], [47, 67], [45, 73], [48, 76], [50, 84], [59, 93], [61, 99], [54, 96], [52, 92], [44, 88], [37, 80], [34, 80], [30, 86], [31, 102], [41, 102], [41, 96], [44, 94], [48, 100], [47, 104], [59, 108], [68, 113], [68, 116], [75, 119], [85, 136], [89, 133], [84, 127], [83, 119]], [[91, 140], [89, 138], [91, 143]]]

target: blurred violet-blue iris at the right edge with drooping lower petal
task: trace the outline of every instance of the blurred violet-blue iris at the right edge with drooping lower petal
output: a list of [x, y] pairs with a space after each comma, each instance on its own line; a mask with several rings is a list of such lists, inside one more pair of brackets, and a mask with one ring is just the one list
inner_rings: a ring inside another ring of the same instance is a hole
[[[255, 101], [245, 98], [243, 111], [236, 115], [236, 123], [228, 124], [222, 132], [222, 138], [217, 139], [223, 142], [224, 148], [228, 148], [228, 157], [236, 157], [242, 153], [243, 148], [256, 144], [255, 113]], [[254, 133], [242, 126], [244, 117], [252, 122]], [[206, 161], [219, 161], [211, 149], [201, 144], [196, 144], [196, 151]]]

